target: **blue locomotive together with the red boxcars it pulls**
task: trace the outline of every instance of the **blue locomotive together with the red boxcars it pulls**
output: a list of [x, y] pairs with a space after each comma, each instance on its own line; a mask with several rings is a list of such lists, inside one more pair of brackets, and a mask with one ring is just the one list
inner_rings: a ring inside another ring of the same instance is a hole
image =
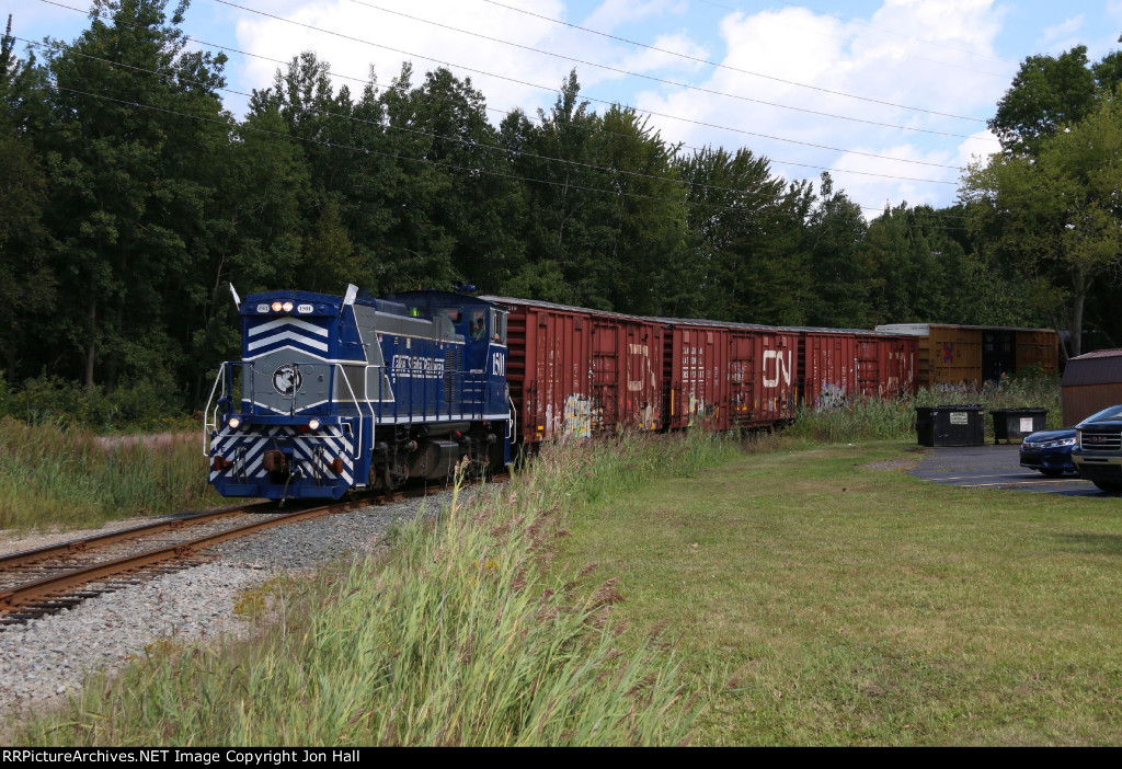
[[241, 359], [220, 367], [204, 420], [227, 497], [339, 499], [495, 471], [554, 438], [773, 427], [918, 383], [920, 337], [890, 331], [353, 286], [258, 294], [238, 314]]

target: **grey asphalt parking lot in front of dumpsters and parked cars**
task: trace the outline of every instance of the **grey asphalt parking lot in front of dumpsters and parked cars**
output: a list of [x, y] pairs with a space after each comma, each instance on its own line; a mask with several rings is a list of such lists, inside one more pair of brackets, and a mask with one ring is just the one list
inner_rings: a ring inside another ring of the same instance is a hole
[[972, 489], [1013, 489], [1043, 491], [1069, 497], [1109, 497], [1091, 481], [1066, 473], [1046, 478], [1022, 467], [1017, 444], [984, 446], [938, 446], [923, 452], [912, 475], [932, 483], [949, 483]]

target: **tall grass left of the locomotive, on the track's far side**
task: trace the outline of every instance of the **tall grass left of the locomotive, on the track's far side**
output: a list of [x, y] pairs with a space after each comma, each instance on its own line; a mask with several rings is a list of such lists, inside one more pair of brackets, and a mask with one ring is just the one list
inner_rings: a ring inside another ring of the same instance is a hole
[[112, 445], [79, 428], [0, 419], [0, 528], [93, 526], [218, 500], [196, 442]]

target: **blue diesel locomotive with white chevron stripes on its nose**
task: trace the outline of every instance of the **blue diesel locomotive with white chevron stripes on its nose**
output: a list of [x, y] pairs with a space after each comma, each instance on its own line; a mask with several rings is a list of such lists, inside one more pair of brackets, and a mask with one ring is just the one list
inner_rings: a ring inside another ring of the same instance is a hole
[[340, 499], [511, 461], [502, 307], [350, 286], [256, 294], [238, 314], [241, 360], [220, 367], [203, 429], [220, 494]]

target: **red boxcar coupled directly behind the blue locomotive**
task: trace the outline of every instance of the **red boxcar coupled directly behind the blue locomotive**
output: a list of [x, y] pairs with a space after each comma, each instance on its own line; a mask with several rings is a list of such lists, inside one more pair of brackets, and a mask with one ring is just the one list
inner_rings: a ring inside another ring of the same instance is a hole
[[509, 297], [507, 382], [517, 438], [661, 429], [663, 326], [649, 319]]

